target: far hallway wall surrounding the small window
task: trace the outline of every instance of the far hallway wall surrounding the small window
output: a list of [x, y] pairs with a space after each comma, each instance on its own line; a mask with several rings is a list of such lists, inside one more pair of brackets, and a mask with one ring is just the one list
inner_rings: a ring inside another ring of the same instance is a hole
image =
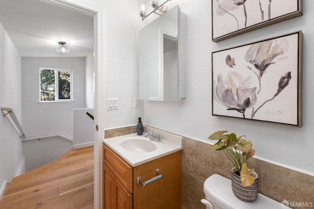
[[[73, 70], [74, 102], [38, 103], [39, 68]], [[85, 58], [22, 58], [23, 123], [27, 138], [73, 139], [73, 109], [85, 108]]]

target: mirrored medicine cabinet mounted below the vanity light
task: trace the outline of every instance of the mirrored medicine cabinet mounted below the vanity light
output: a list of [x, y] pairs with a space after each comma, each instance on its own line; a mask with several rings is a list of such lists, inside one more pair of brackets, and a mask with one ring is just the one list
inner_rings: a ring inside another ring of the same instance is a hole
[[185, 15], [177, 5], [139, 31], [139, 99], [185, 97]]

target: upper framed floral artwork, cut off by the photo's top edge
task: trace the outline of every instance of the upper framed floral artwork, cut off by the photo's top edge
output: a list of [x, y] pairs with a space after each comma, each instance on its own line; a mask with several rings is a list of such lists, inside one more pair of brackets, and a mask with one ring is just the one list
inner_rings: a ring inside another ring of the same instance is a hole
[[302, 15], [302, 0], [211, 0], [212, 41]]

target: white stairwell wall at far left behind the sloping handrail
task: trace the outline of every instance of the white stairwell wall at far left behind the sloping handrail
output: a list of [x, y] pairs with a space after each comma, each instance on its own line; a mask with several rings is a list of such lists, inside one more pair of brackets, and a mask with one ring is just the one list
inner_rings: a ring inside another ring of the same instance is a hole
[[[21, 56], [0, 23], [0, 106], [13, 108], [22, 124]], [[2, 112], [1, 114], [6, 113]], [[0, 116], [0, 198], [6, 182], [24, 164], [22, 140], [9, 116]], [[23, 173], [23, 169], [21, 170]]]

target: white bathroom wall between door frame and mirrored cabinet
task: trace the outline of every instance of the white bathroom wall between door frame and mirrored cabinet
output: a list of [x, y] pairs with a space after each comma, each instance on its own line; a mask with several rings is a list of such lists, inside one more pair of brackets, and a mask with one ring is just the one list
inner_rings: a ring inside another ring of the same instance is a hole
[[[138, 30], [140, 3], [137, 0], [105, 1], [105, 101], [119, 98], [119, 110], [105, 111], [105, 129], [137, 123], [143, 116], [134, 108], [138, 97]], [[114, 8], [114, 9], [113, 9]], [[105, 107], [107, 109], [107, 107]]]

